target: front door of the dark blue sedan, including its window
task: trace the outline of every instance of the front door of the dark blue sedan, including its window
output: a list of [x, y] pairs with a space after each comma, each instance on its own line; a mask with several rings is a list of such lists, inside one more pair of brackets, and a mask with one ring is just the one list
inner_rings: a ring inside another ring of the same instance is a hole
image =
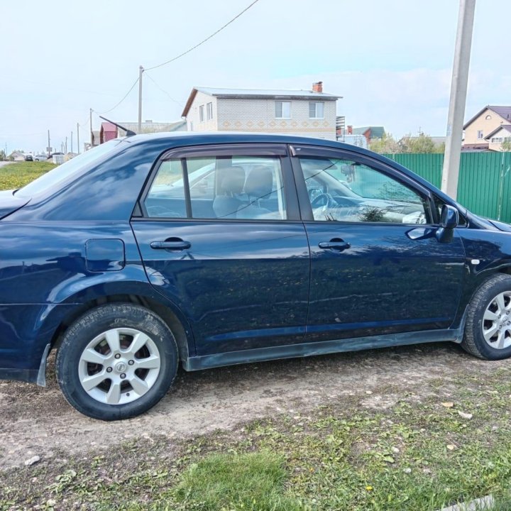
[[361, 155], [295, 154], [311, 250], [307, 340], [449, 328], [463, 245], [456, 234], [437, 241], [427, 189]]

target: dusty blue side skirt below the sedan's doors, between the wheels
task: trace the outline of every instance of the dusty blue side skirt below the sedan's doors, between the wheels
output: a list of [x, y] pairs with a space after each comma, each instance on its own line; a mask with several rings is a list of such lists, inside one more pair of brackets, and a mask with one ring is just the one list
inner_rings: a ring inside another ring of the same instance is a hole
[[286, 346], [270, 346], [269, 348], [248, 349], [243, 351], [227, 351], [214, 355], [192, 356], [183, 361], [185, 370], [201, 370], [242, 363], [295, 358], [343, 351], [361, 351], [389, 346], [405, 346], [429, 342], [450, 341], [461, 343], [463, 328], [446, 330], [425, 330], [406, 332], [404, 334], [388, 334], [382, 336], [356, 337], [339, 341], [321, 341], [305, 344], [288, 344]]

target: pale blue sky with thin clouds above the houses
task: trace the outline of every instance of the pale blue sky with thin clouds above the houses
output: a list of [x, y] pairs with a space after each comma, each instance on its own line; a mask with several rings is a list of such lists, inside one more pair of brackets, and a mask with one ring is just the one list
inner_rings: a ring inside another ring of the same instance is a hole
[[[148, 68], [214, 33], [252, 0], [2, 0], [0, 149], [80, 145]], [[511, 104], [510, 0], [477, 0], [466, 119]], [[194, 86], [339, 94], [346, 124], [400, 138], [446, 131], [458, 0], [259, 0], [175, 62], [143, 75], [143, 120], [177, 121]], [[138, 87], [114, 110], [138, 119]]]

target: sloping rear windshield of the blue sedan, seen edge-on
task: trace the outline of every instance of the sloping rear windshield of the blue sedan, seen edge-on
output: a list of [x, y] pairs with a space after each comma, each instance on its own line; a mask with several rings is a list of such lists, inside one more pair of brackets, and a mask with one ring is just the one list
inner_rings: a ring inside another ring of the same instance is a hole
[[110, 153], [116, 148], [122, 141], [112, 140], [104, 144], [98, 145], [97, 147], [82, 153], [81, 155], [72, 158], [62, 165], [55, 167], [50, 172], [46, 172], [38, 179], [28, 183], [23, 188], [20, 188], [14, 192], [16, 197], [31, 198], [34, 195], [46, 192], [48, 189], [55, 187], [59, 182], [67, 180], [73, 174], [77, 174], [85, 165], [94, 163], [96, 160], [100, 160], [104, 155]]

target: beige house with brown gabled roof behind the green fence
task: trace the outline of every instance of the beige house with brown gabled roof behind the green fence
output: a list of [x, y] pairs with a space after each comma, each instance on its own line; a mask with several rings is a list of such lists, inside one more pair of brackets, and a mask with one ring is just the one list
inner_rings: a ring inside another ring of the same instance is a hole
[[502, 150], [510, 125], [511, 106], [485, 106], [463, 126], [463, 150]]

